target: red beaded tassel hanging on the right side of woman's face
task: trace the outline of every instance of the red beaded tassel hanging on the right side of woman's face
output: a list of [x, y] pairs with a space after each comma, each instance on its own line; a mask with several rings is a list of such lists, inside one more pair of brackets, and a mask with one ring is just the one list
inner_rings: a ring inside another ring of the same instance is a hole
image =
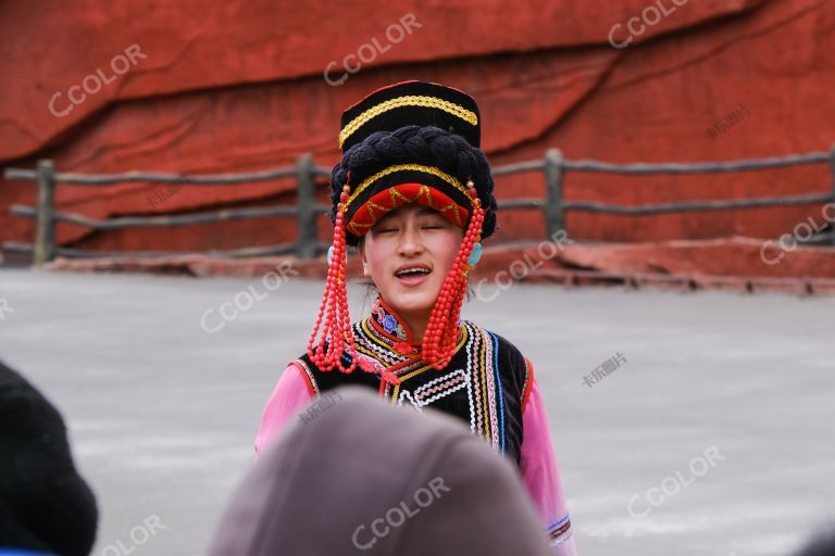
[[435, 301], [423, 336], [421, 359], [438, 370], [447, 366], [456, 350], [458, 320], [461, 315], [461, 305], [466, 295], [466, 275], [470, 271], [468, 260], [473, 251], [473, 245], [482, 239], [484, 208], [482, 208], [473, 181], [469, 180], [466, 187], [473, 214], [464, 233], [464, 240], [461, 242], [461, 248], [456, 256], [456, 262], [440, 287], [438, 299]]

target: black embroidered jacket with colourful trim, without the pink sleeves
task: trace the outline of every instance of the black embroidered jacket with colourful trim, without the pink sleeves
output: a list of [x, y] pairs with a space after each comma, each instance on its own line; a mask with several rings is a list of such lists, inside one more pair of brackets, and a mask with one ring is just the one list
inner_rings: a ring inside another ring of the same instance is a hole
[[[512, 343], [463, 320], [452, 359], [437, 370], [420, 361], [420, 343], [411, 341], [408, 326], [382, 300], [377, 299], [371, 316], [352, 328], [359, 357], [367, 358], [381, 370], [404, 365], [394, 371], [400, 383], [384, 381], [379, 374], [359, 367], [351, 374], [322, 371], [304, 354], [294, 363], [304, 371], [312, 394], [317, 396], [348, 383], [364, 384], [396, 405], [418, 412], [425, 407], [440, 409], [461, 418], [474, 434], [519, 464], [522, 412], [532, 380], [529, 362]], [[408, 359], [413, 362], [403, 363]], [[347, 353], [344, 362], [350, 364]]]

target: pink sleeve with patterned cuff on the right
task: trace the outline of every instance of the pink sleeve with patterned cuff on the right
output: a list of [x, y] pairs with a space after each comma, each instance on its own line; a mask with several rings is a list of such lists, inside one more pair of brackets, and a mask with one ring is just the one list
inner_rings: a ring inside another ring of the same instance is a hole
[[531, 393], [522, 414], [522, 477], [534, 505], [539, 510], [554, 554], [573, 556], [576, 554], [574, 538], [551, 445], [548, 414], [539, 386], [535, 378], [532, 380]]

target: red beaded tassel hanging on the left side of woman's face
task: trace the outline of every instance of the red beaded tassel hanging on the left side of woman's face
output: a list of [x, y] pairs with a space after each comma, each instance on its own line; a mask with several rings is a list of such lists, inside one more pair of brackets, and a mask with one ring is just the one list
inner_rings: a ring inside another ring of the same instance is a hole
[[[350, 181], [350, 174], [348, 176]], [[348, 314], [347, 289], [347, 241], [345, 239], [345, 211], [350, 193], [350, 186], [342, 186], [337, 205], [336, 223], [334, 225], [334, 251], [331, 264], [327, 267], [327, 282], [325, 293], [322, 296], [322, 305], [319, 308], [316, 324], [308, 340], [308, 356], [313, 364], [322, 370], [332, 370], [337, 367], [342, 372], [351, 372], [357, 368], [357, 349], [353, 343], [353, 330], [351, 317]], [[325, 315], [325, 311], [327, 314]], [[325, 316], [324, 326], [322, 317]], [[316, 343], [316, 334], [322, 328], [322, 338]], [[325, 346], [327, 340], [327, 346]], [[345, 343], [348, 343], [348, 354], [351, 364], [346, 367], [342, 364]]]

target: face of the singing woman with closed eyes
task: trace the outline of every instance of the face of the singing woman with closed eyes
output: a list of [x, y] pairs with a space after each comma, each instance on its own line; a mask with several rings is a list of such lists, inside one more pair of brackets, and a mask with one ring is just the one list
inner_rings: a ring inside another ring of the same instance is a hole
[[437, 211], [406, 204], [386, 213], [363, 237], [363, 273], [398, 315], [425, 326], [463, 237], [463, 228]]

